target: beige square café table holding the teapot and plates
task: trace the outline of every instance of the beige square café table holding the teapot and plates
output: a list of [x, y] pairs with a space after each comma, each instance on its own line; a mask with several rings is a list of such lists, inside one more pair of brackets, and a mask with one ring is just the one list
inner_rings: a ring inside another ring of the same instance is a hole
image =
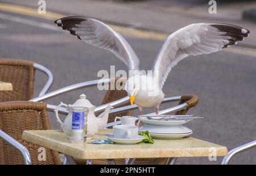
[[[112, 129], [101, 129], [94, 139], [106, 139]], [[60, 130], [25, 130], [22, 139], [64, 153], [70, 164], [76, 164], [74, 158], [108, 159], [115, 164], [114, 158], [125, 159], [125, 164], [133, 164], [135, 158], [169, 158], [166, 164], [174, 164], [177, 157], [226, 156], [228, 149], [222, 145], [187, 137], [177, 140], [155, 139], [154, 144], [73, 144]]]

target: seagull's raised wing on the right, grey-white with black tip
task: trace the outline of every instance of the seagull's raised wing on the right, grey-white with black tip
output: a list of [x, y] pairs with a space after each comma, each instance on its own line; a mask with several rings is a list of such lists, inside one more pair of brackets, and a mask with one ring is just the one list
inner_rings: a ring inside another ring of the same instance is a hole
[[210, 54], [229, 45], [236, 45], [250, 31], [232, 24], [197, 23], [181, 28], [167, 37], [155, 58], [153, 70], [158, 71], [159, 86], [182, 59], [189, 55]]

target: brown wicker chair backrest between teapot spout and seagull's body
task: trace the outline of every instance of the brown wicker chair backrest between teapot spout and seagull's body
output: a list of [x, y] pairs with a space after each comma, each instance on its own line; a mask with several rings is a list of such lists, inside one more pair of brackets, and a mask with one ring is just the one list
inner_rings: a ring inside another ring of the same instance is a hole
[[[113, 78], [111, 80], [110, 87], [111, 87], [111, 85], [113, 85], [114, 90], [109, 88], [109, 90], [106, 92], [106, 95], [105, 95], [104, 99], [101, 102], [101, 105], [107, 104], [109, 102], [118, 100], [118, 99], [123, 98], [123, 97], [126, 97], [127, 92], [125, 91], [125, 89], [118, 90], [115, 87], [117, 81], [118, 81], [118, 85], [119, 85], [119, 83], [123, 83], [123, 85], [121, 85], [121, 86], [124, 87], [125, 83], [126, 83], [126, 80], [127, 80], [127, 78]], [[121, 105], [121, 106], [127, 106], [127, 105], [130, 105], [130, 103], [127, 102], [127, 104], [124, 104], [124, 105]], [[118, 107], [121, 107], [121, 106], [117, 106], [115, 108], [118, 108]], [[122, 117], [122, 116], [125, 116], [125, 115], [132, 115], [132, 114], [133, 114], [133, 110], [123, 111], [122, 113], [110, 114], [108, 123], [114, 122], [114, 118], [117, 117], [117, 116]]]

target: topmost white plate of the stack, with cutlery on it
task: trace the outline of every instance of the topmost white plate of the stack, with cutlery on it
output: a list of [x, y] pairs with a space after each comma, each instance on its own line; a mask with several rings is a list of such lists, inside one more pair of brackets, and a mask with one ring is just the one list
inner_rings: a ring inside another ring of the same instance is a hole
[[153, 119], [148, 119], [144, 117], [139, 118], [142, 122], [148, 124], [148, 125], [156, 125], [156, 126], [179, 126], [183, 125], [185, 123], [188, 123], [192, 121], [192, 119], [176, 119], [176, 120], [168, 120], [168, 121], [159, 121], [159, 120], [153, 120]]

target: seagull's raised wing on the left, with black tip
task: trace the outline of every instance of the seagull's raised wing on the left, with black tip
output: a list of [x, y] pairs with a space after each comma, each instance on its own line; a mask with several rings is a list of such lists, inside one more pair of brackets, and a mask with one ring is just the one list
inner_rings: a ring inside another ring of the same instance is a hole
[[139, 59], [129, 43], [108, 25], [92, 18], [68, 16], [55, 23], [77, 36], [86, 44], [110, 50], [116, 57], [125, 62], [130, 70], [139, 70]]

